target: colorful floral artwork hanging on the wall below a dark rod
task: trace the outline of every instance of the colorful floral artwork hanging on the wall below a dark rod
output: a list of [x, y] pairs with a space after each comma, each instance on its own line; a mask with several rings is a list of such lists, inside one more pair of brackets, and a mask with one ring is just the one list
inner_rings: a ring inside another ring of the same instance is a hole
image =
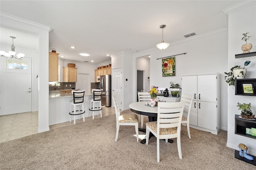
[[175, 76], [175, 57], [162, 59], [162, 77]]

